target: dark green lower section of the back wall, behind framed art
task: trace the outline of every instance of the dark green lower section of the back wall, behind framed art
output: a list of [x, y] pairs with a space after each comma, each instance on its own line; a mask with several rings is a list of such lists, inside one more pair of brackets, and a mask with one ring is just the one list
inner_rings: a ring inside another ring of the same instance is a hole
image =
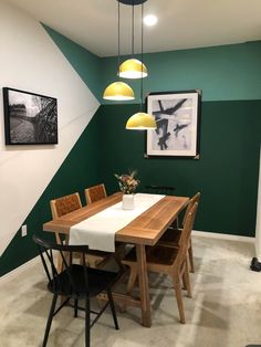
[[146, 185], [170, 185], [176, 194], [202, 193], [195, 229], [254, 235], [261, 101], [203, 102], [200, 159], [145, 159], [145, 133], [125, 130], [138, 105], [103, 105], [96, 114], [101, 180], [117, 190], [114, 174], [138, 170]]

